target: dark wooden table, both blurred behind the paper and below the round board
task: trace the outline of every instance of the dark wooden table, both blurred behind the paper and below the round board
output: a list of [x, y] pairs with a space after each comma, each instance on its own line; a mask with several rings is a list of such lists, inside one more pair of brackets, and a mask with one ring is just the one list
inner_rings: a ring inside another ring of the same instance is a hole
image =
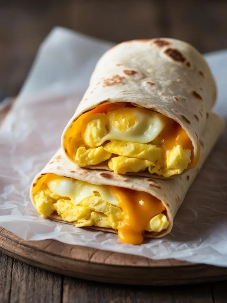
[[[227, 1], [5, 1], [0, 5], [0, 100], [18, 94], [39, 44], [55, 25], [114, 42], [178, 38], [209, 52], [227, 48]], [[0, 252], [0, 303], [224, 303], [226, 297], [227, 281], [110, 285], [53, 274]]]

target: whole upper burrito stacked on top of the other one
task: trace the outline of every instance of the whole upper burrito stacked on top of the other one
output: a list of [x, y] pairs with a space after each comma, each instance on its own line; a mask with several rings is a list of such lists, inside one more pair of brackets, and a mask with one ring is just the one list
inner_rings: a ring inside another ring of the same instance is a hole
[[157, 178], [195, 167], [216, 100], [202, 55], [174, 39], [133, 40], [107, 51], [62, 134], [80, 167]]

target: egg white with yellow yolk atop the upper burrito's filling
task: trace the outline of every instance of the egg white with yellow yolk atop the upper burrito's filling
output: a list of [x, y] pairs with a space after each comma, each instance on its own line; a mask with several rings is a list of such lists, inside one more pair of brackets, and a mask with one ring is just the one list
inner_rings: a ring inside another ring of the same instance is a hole
[[97, 147], [107, 140], [148, 143], [163, 130], [163, 115], [146, 108], [120, 108], [87, 118], [82, 130], [84, 143]]

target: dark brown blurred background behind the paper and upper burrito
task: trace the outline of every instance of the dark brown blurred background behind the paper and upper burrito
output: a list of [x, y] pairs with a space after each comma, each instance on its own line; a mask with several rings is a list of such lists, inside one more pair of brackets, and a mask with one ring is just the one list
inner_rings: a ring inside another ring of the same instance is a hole
[[0, 2], [0, 100], [15, 96], [55, 25], [113, 42], [172, 37], [200, 52], [227, 48], [225, 0], [8, 0]]

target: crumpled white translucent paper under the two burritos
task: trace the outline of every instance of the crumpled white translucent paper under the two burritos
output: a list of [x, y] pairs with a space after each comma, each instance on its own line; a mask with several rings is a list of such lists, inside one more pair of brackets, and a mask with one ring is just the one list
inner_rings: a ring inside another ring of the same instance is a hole
[[[39, 218], [32, 179], [60, 146], [61, 133], [84, 93], [97, 59], [111, 44], [56, 28], [41, 45], [18, 99], [0, 130], [0, 226], [24, 240], [68, 244], [152, 259], [227, 266], [227, 134], [206, 161], [174, 220], [171, 234], [121, 243], [110, 233]], [[227, 51], [206, 55], [217, 80], [214, 111], [227, 117]]]

